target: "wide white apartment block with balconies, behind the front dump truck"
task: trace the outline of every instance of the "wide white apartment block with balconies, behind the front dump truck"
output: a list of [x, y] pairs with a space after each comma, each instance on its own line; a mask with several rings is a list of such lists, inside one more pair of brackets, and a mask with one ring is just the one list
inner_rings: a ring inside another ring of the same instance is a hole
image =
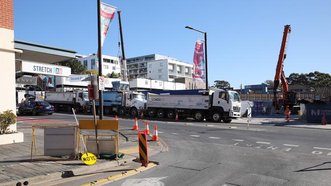
[[192, 78], [192, 64], [172, 57], [151, 54], [127, 58], [128, 75], [132, 78], [147, 78], [161, 81], [174, 81], [175, 78]]

